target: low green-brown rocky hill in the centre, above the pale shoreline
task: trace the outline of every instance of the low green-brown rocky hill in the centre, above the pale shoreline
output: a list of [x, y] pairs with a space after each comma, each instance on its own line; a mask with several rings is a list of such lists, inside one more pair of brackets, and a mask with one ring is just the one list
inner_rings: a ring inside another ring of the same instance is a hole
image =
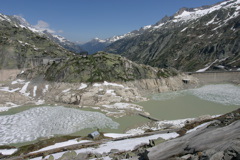
[[33, 79], [42, 75], [45, 80], [55, 82], [121, 82], [166, 78], [177, 75], [177, 72], [174, 69], [164, 70], [139, 65], [119, 55], [98, 52], [30, 69], [19, 77]]

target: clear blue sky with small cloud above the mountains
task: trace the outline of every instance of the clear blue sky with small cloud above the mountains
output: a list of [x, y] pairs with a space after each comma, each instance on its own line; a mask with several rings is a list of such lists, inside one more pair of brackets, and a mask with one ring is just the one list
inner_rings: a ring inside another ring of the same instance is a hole
[[221, 0], [2, 0], [0, 13], [20, 15], [72, 41], [109, 38], [155, 24], [182, 7]]

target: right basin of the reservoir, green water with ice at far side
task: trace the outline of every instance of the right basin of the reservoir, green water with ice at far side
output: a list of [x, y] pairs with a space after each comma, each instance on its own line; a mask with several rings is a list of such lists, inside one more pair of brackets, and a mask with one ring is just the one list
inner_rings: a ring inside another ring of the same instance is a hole
[[196, 89], [155, 94], [149, 98], [149, 101], [137, 104], [160, 120], [219, 115], [240, 108], [240, 86], [206, 85]]

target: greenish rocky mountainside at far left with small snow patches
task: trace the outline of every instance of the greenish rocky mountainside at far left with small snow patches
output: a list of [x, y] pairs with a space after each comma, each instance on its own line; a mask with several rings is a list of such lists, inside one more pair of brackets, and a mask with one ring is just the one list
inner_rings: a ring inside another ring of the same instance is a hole
[[0, 69], [29, 68], [42, 64], [44, 58], [74, 55], [24, 19], [3, 14], [0, 14], [0, 44]]

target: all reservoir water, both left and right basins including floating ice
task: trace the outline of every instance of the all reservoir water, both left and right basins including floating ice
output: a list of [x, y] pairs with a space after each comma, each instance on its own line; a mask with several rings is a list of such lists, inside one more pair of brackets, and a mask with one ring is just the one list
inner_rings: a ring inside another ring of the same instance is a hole
[[[240, 108], [240, 86], [207, 85], [196, 89], [159, 93], [137, 103], [160, 120], [219, 115]], [[39, 137], [71, 134], [86, 136], [100, 128], [123, 133], [149, 120], [138, 115], [109, 118], [94, 109], [85, 111], [61, 106], [19, 107], [0, 113], [0, 145], [34, 141]]]

